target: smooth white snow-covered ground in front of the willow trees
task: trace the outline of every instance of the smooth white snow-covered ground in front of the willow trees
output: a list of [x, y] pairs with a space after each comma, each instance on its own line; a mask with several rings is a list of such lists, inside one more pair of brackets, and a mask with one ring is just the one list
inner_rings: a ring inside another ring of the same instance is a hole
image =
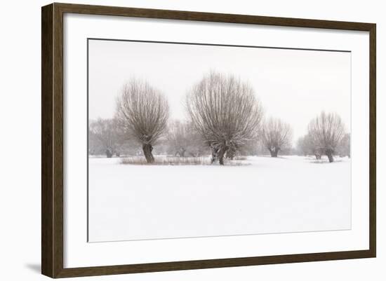
[[89, 240], [351, 228], [350, 159], [248, 157], [251, 165], [89, 159]]

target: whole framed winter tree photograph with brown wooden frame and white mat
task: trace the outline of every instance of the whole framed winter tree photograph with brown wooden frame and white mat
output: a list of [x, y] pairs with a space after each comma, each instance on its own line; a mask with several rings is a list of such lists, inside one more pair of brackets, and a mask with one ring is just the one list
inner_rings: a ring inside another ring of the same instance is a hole
[[375, 257], [375, 24], [41, 18], [44, 275]]

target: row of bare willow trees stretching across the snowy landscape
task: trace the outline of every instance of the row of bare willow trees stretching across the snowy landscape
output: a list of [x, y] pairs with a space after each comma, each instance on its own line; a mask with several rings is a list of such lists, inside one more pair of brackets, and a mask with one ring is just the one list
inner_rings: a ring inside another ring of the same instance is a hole
[[[253, 88], [234, 76], [215, 72], [204, 76], [187, 92], [185, 106], [189, 121], [169, 121], [164, 95], [146, 81], [132, 79], [117, 99], [114, 119], [90, 123], [89, 140], [102, 144], [107, 157], [123, 149], [135, 153], [142, 149], [148, 163], [154, 162], [154, 146], [181, 157], [210, 151], [212, 163], [220, 165], [236, 153], [251, 153], [257, 143], [272, 157], [291, 147], [291, 126], [277, 118], [263, 121], [262, 105]], [[298, 142], [302, 152], [317, 157], [325, 154], [332, 162], [345, 136], [339, 116], [322, 112], [310, 122], [308, 131]], [[98, 150], [89, 148], [91, 153]]]

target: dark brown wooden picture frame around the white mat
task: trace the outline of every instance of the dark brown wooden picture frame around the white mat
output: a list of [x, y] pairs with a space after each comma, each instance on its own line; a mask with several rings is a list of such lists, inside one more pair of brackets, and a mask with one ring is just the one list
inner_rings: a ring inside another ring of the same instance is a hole
[[[251, 25], [309, 27], [369, 32], [370, 69], [370, 159], [369, 159], [369, 249], [286, 254], [279, 256], [251, 256], [229, 259], [173, 261], [85, 268], [63, 267], [63, 15], [116, 15], [137, 18], [195, 20], [204, 22], [232, 22]], [[376, 97], [375, 97], [375, 29], [373, 23], [272, 18], [255, 15], [231, 15], [166, 11], [142, 8], [119, 8], [77, 4], [51, 4], [41, 10], [41, 273], [49, 277], [74, 277], [121, 273], [144, 273], [165, 270], [255, 266], [272, 263], [295, 263], [375, 257], [375, 179], [376, 179]]]

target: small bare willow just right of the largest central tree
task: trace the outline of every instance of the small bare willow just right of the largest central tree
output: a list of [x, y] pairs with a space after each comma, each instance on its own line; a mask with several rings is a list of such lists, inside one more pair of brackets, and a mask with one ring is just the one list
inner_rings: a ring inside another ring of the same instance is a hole
[[277, 118], [269, 118], [262, 127], [262, 143], [272, 157], [281, 149], [291, 146], [291, 126]]

